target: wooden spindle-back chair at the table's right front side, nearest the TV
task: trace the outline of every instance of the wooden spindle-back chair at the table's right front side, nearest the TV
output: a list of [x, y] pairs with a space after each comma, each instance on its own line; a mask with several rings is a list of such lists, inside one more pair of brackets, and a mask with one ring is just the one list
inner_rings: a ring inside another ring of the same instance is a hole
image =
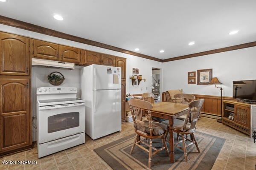
[[[196, 130], [195, 125], [196, 125], [196, 122], [198, 121], [198, 117], [200, 116], [203, 103], [204, 103], [204, 99], [199, 99], [199, 100], [190, 102], [189, 103], [190, 111], [186, 114], [186, 120], [181, 121], [181, 120], [176, 119], [176, 121], [174, 122], [174, 125], [173, 125], [173, 128], [174, 128], [173, 131], [176, 132], [178, 135], [181, 134], [181, 138], [182, 138], [181, 141], [177, 141], [177, 143], [175, 143], [175, 146], [184, 151], [184, 156], [185, 156], [186, 161], [187, 161], [186, 147], [190, 146], [191, 144], [195, 144], [198, 152], [200, 153], [198, 143], [195, 140], [194, 132]], [[193, 116], [191, 116], [191, 123], [189, 123], [189, 116], [191, 115], [191, 108], [194, 108], [195, 112], [194, 112]], [[184, 135], [189, 135], [189, 134], [190, 134], [190, 139], [184, 136]], [[186, 144], [185, 139], [186, 139], [186, 141], [189, 141], [190, 143]], [[178, 145], [180, 142], [183, 142], [182, 147], [180, 145]]]

